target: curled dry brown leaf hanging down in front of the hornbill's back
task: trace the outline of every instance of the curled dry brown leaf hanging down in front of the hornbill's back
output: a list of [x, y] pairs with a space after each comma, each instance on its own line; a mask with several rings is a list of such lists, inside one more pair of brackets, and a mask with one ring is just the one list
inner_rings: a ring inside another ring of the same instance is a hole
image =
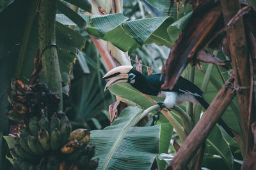
[[195, 57], [195, 54], [215, 37], [223, 26], [220, 2], [210, 1], [205, 6], [199, 6], [191, 15], [184, 31], [172, 48], [167, 60], [166, 78], [162, 89], [173, 89], [180, 74]]

